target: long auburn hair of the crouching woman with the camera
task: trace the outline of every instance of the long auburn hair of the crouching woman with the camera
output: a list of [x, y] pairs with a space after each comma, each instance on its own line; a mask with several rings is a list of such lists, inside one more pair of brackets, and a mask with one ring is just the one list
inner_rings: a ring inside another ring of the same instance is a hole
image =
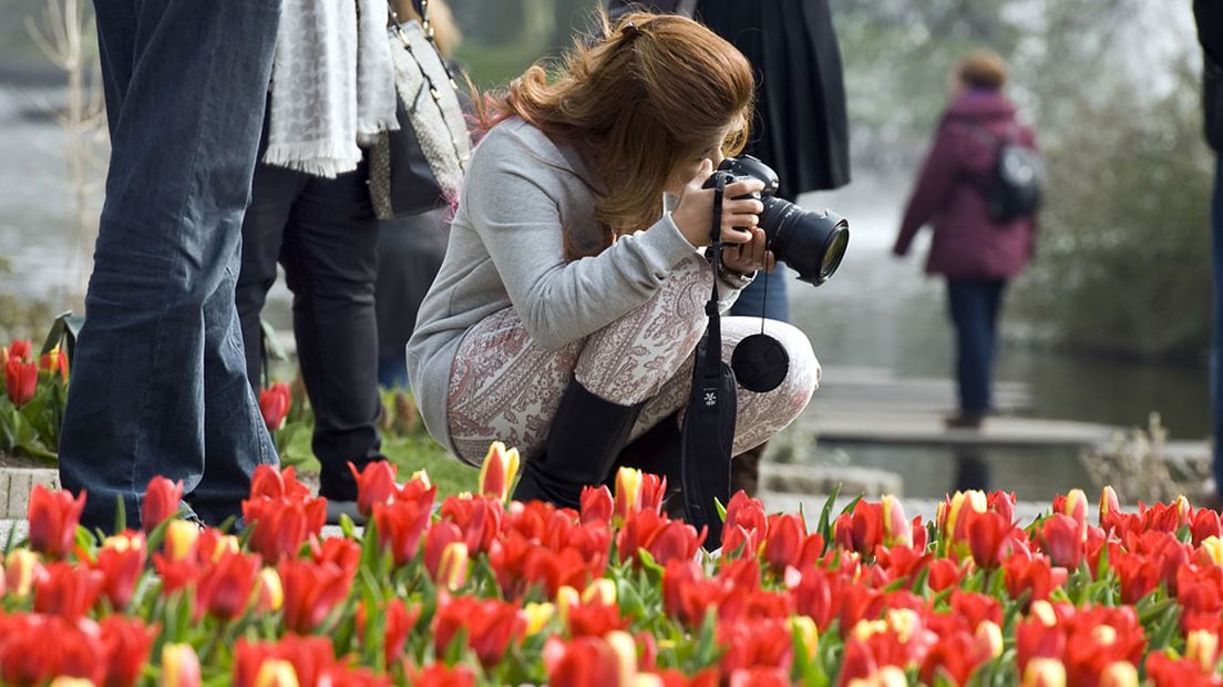
[[[747, 59], [708, 28], [671, 15], [630, 13], [578, 38], [556, 68], [532, 65], [477, 112], [487, 132], [519, 116], [586, 158], [598, 178], [594, 216], [604, 243], [662, 213], [662, 189], [681, 160], [728, 126], [723, 150], [747, 142], [755, 79]], [[566, 237], [566, 249], [578, 252]], [[597, 252], [597, 251], [596, 251]]]

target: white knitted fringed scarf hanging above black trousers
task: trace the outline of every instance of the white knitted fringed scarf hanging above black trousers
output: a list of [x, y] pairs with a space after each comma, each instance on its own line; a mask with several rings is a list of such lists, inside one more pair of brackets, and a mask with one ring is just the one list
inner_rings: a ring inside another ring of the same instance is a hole
[[263, 161], [314, 176], [357, 169], [399, 128], [386, 0], [284, 0]]

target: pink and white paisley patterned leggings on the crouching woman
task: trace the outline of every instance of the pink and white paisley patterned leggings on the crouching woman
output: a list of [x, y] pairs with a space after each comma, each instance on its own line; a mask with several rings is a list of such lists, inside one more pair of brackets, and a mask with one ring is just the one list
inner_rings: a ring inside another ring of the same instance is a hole
[[[704, 332], [713, 270], [700, 255], [680, 263], [649, 301], [594, 334], [548, 351], [531, 340], [512, 307], [473, 326], [450, 370], [450, 438], [460, 457], [479, 465], [494, 440], [538, 456], [570, 379], [592, 394], [630, 406], [646, 401], [630, 441], [684, 408], [693, 351]], [[761, 330], [759, 318], [722, 318], [722, 357]], [[764, 331], [790, 355], [781, 385], [764, 394], [739, 388], [734, 455], [767, 441], [807, 406], [819, 363], [806, 335], [766, 320]]]

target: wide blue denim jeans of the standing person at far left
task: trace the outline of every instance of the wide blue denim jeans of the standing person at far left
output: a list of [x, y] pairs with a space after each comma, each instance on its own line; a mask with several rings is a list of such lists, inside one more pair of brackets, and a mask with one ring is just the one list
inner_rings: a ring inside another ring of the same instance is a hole
[[106, 0], [97, 17], [111, 158], [60, 478], [88, 491], [91, 528], [120, 499], [138, 522], [157, 474], [219, 523], [276, 463], [234, 287], [280, 1]]

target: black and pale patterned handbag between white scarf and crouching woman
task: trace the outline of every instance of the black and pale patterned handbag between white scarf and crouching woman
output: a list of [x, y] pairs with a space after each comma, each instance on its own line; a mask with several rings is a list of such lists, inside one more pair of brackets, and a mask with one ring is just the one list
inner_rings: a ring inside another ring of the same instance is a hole
[[379, 219], [419, 214], [456, 198], [471, 158], [459, 87], [433, 42], [429, 2], [413, 5], [419, 22], [400, 22], [388, 6], [399, 130], [369, 150], [369, 196]]

